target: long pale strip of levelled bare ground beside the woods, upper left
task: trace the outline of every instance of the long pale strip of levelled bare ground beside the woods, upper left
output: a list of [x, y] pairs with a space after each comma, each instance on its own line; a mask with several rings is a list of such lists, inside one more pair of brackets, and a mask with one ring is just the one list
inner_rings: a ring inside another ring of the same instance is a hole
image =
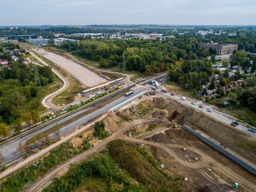
[[50, 60], [59, 65], [61, 68], [64, 68], [68, 73], [71, 74], [71, 76], [76, 77], [76, 79], [78, 79], [80, 83], [84, 84], [85, 86], [96, 86], [106, 82], [106, 79], [98, 76], [74, 61], [63, 58], [58, 54], [47, 52], [44, 49], [34, 49], [33, 51], [38, 52], [38, 54], [44, 56], [44, 58], [47, 60]]

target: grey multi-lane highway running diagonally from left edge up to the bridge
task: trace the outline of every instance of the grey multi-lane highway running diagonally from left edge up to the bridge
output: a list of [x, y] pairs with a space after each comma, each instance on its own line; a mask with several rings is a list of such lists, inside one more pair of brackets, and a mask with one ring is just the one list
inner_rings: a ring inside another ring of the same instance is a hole
[[[99, 115], [102, 115], [102, 113], [105, 113], [109, 109], [117, 106], [118, 104], [121, 104], [122, 102], [124, 102], [125, 100], [127, 100], [130, 97], [134, 97], [134, 96], [140, 94], [141, 92], [144, 92], [144, 90], [143, 89], [136, 90], [136, 91], [134, 91], [134, 94], [129, 97], [121, 97], [120, 99], [117, 99], [117, 100], [107, 104], [106, 106], [104, 106], [100, 109], [97, 109], [96, 111], [93, 111], [89, 115], [79, 118], [79, 120], [76, 120], [69, 125], [61, 127], [60, 135], [64, 134], [65, 132], [71, 131], [72, 129], [75, 129], [76, 127], [79, 127], [79, 125], [88, 122], [88, 120], [91, 120]], [[121, 93], [121, 94], [123, 94], [123, 93]], [[92, 107], [76, 111], [76, 113], [72, 113], [71, 115], [68, 115], [68, 116], [62, 118], [61, 121], [58, 120], [58, 124], [61, 124], [61, 122], [65, 122], [68, 119], [74, 118], [75, 116], [77, 116], [81, 113], [84, 113], [84, 111], [87, 111], [91, 108]], [[39, 134], [40, 132], [44, 132], [44, 131], [51, 129], [55, 125], [55, 123], [56, 122], [52, 122], [51, 124], [46, 125], [45, 127], [42, 127], [42, 129], [38, 129], [38, 130], [33, 131], [25, 136], [21, 136], [20, 138], [12, 140], [9, 143], [6, 143], [4, 146], [2, 145], [0, 147], [0, 152], [4, 156], [4, 159], [5, 159], [4, 163], [10, 163], [10, 162], [14, 161], [15, 159], [19, 159], [19, 157], [22, 157], [24, 155], [24, 154], [21, 154], [17, 150], [17, 146], [19, 145], [20, 142], [25, 143], [29, 138], [35, 136], [36, 134]], [[54, 134], [50, 134], [50, 137], [51, 137], [51, 139], [53, 139]]]

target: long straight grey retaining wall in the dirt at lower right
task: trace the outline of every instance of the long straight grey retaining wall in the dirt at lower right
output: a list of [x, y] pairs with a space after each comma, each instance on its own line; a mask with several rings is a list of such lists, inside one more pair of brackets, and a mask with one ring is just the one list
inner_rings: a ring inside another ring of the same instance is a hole
[[208, 138], [205, 138], [205, 136], [202, 136], [198, 132], [195, 132], [193, 129], [189, 128], [188, 126], [183, 125], [182, 127], [186, 131], [190, 132], [191, 134], [195, 135], [200, 140], [202, 140], [205, 143], [207, 143], [208, 145], [210, 145], [212, 148], [218, 150], [218, 152], [221, 152], [221, 154], [228, 157], [228, 159], [230, 159], [230, 160], [234, 161], [235, 163], [239, 164], [244, 169], [248, 170], [250, 173], [253, 173], [253, 175], [256, 175], [256, 169], [252, 165], [250, 165], [250, 164], [246, 163], [245, 161], [243, 161], [242, 159], [239, 159], [238, 157], [234, 156], [233, 154], [231, 154], [230, 152], [225, 150], [225, 148], [220, 147], [220, 145], [214, 143], [213, 141], [209, 140]]

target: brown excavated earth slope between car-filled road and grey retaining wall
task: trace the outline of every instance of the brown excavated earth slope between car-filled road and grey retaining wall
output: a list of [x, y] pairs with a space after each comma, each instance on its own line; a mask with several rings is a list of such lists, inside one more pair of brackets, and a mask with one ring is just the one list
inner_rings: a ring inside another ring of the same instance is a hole
[[[169, 112], [169, 120], [180, 125], [188, 125], [193, 130], [206, 134], [221, 147], [230, 149], [246, 161], [256, 164], [256, 155], [253, 152], [244, 151], [243, 148], [237, 146], [237, 141], [244, 138], [244, 133], [237, 131], [229, 125], [223, 124], [213, 118], [195, 111], [193, 108], [188, 108], [175, 100], [166, 99], [163, 97], [154, 97], [154, 99], [144, 100], [141, 102], [145, 108], [165, 109]], [[157, 113], [157, 112], [156, 112]]]

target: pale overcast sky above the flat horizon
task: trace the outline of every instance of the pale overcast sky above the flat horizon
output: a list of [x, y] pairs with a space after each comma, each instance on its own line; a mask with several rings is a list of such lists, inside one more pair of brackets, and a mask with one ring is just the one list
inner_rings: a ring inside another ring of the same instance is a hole
[[255, 25], [256, 0], [8, 0], [0, 26]]

